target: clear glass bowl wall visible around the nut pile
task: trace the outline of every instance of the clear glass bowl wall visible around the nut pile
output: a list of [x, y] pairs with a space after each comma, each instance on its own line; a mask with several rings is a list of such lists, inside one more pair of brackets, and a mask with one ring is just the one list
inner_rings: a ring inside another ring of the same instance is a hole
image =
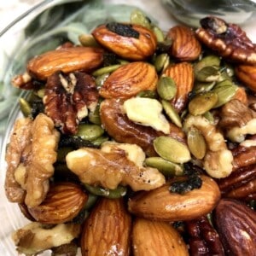
[[[89, 33], [107, 20], [127, 21], [135, 6], [164, 31], [177, 24], [160, 0], [133, 0], [129, 5], [125, 0], [45, 0], [0, 32], [0, 255], [17, 255], [11, 234], [28, 222], [17, 204], [9, 203], [4, 195], [5, 149], [15, 119], [21, 116], [18, 98], [24, 94], [11, 86], [11, 79], [25, 71], [26, 61], [32, 56], [55, 49], [67, 39], [78, 43], [79, 34]], [[253, 25], [245, 26], [245, 30], [255, 42]]]

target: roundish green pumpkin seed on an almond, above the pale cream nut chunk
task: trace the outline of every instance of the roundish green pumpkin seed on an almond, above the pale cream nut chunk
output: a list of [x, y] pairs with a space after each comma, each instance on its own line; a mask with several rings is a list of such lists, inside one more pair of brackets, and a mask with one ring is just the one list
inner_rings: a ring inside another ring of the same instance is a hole
[[166, 101], [172, 100], [177, 93], [177, 87], [174, 80], [170, 77], [162, 76], [160, 77], [156, 90], [159, 96]]

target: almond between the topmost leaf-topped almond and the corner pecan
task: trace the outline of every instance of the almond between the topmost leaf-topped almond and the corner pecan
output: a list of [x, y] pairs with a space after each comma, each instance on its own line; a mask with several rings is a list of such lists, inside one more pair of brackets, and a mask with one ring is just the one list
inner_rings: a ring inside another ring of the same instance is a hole
[[195, 61], [201, 54], [201, 44], [191, 28], [181, 25], [172, 26], [167, 37], [172, 39], [170, 55], [179, 61]]

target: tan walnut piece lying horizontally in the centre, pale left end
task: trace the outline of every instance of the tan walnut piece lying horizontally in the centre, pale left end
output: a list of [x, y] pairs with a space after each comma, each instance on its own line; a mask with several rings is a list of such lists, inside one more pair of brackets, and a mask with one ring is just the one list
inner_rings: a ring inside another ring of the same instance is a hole
[[79, 148], [67, 154], [67, 167], [82, 183], [116, 189], [129, 185], [134, 191], [156, 189], [165, 177], [155, 168], [144, 167], [145, 154], [136, 144], [110, 143], [98, 148]]

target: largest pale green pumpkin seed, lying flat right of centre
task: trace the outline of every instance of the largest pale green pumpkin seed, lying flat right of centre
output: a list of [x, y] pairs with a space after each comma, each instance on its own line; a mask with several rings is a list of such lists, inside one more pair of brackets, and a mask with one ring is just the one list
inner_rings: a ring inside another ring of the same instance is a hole
[[154, 139], [154, 150], [165, 160], [183, 164], [191, 159], [189, 148], [172, 137], [160, 136]]

